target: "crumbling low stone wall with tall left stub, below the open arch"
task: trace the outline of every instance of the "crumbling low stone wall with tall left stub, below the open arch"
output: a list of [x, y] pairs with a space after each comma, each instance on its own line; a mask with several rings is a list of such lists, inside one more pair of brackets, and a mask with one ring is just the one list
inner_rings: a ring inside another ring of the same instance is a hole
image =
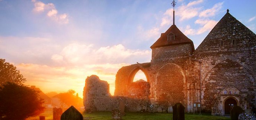
[[145, 81], [132, 82], [128, 86], [126, 96], [111, 96], [106, 81], [92, 75], [85, 80], [83, 100], [85, 112], [111, 111], [118, 108], [119, 103], [125, 103], [126, 112], [147, 112], [149, 106], [150, 84]]

